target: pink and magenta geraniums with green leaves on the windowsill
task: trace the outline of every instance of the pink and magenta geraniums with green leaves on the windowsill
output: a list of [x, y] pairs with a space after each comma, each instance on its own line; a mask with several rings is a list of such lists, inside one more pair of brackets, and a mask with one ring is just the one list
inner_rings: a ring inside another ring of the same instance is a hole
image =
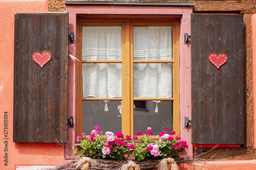
[[[127, 145], [127, 140], [131, 140], [131, 136], [126, 135], [126, 139], [121, 132], [105, 132], [102, 135], [99, 126], [95, 126], [94, 130], [90, 134], [88, 139], [86, 133], [82, 132], [81, 136], [77, 136], [76, 139], [81, 143], [80, 156], [86, 156], [91, 158], [105, 159], [112, 157], [118, 161], [123, 161], [124, 155], [129, 154], [129, 157], [135, 157], [136, 160], [144, 160], [151, 158], [161, 158], [167, 156], [178, 156], [178, 150], [188, 148], [187, 142], [182, 140], [181, 137], [172, 136], [175, 131], [167, 133], [168, 129], [165, 128], [164, 132], [160, 132], [158, 135], [158, 141], [152, 141], [151, 135], [153, 131], [151, 128], [147, 128], [145, 134], [141, 131], [137, 132], [133, 136], [133, 142]], [[103, 139], [106, 138], [104, 144]], [[78, 148], [75, 147], [75, 156], [78, 155]]]

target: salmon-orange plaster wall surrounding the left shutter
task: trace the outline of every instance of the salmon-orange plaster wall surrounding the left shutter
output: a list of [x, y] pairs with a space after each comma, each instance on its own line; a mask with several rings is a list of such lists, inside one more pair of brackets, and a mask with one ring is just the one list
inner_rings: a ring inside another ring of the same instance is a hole
[[[13, 55], [14, 14], [46, 13], [48, 0], [0, 1], [0, 169], [15, 169], [15, 165], [56, 165], [63, 162], [64, 144], [13, 143]], [[4, 114], [8, 112], [8, 136], [4, 136]], [[7, 139], [5, 139], [7, 138]], [[6, 144], [5, 141], [8, 141]], [[5, 151], [5, 148], [8, 151]], [[4, 165], [8, 154], [8, 166]]]

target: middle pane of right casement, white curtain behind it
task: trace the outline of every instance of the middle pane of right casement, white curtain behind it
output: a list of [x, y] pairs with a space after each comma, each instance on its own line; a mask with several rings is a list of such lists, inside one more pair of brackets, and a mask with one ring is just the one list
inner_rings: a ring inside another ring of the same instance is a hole
[[135, 63], [134, 98], [172, 98], [172, 63]]

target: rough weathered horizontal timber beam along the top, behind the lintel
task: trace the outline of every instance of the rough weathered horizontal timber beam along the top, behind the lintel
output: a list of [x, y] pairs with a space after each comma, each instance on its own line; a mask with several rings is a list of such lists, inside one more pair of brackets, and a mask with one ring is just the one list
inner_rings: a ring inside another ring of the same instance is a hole
[[[66, 0], [51, 0], [48, 3], [48, 11], [49, 12], [63, 12], [66, 10], [65, 6]], [[75, 1], [75, 0], [71, 0]], [[144, 1], [150, 1], [150, 0], [144, 0]], [[159, 1], [176, 1], [176, 0], [159, 0]], [[195, 7], [194, 11], [240, 11], [242, 14], [244, 13], [256, 13], [256, 1], [253, 0], [247, 0], [247, 1], [241, 1], [241, 0], [233, 0], [233, 1], [227, 1], [227, 0], [177, 0], [181, 2], [194, 2]]]

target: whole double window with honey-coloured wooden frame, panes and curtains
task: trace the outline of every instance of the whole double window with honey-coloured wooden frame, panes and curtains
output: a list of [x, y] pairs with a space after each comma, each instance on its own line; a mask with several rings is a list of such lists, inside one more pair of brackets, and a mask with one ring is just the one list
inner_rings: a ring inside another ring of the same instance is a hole
[[178, 30], [167, 21], [78, 23], [77, 134], [95, 125], [179, 132]]

